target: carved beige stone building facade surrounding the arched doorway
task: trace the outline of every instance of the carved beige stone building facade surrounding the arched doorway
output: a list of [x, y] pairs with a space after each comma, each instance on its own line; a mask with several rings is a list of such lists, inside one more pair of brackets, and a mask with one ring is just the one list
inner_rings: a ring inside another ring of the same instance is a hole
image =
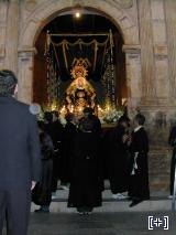
[[31, 103], [35, 41], [61, 12], [76, 6], [110, 19], [123, 36], [128, 105], [147, 118], [151, 186], [169, 182], [167, 137], [176, 119], [175, 0], [0, 0], [0, 68], [19, 77], [19, 99]]

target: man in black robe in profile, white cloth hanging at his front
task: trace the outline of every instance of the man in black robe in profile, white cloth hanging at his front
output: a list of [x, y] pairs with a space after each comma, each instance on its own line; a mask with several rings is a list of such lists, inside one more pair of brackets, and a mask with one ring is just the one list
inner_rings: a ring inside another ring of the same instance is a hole
[[139, 204], [144, 200], [150, 200], [148, 188], [148, 138], [143, 127], [145, 117], [138, 114], [134, 117], [135, 129], [132, 132], [130, 141], [131, 151], [131, 177], [129, 196], [132, 200], [131, 206]]

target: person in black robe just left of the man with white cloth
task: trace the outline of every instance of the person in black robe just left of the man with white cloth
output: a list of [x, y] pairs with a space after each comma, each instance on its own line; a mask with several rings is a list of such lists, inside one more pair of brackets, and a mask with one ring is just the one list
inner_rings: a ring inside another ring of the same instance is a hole
[[108, 178], [113, 199], [125, 199], [122, 192], [128, 191], [128, 139], [129, 121], [121, 117], [116, 128], [109, 131], [108, 145]]

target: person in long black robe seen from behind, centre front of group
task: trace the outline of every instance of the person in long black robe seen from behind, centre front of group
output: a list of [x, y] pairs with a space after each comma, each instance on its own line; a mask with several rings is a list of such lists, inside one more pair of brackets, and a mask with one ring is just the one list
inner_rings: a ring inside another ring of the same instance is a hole
[[82, 131], [75, 137], [74, 169], [69, 188], [68, 207], [89, 214], [101, 206], [102, 172], [100, 137], [92, 132], [94, 122], [85, 119]]

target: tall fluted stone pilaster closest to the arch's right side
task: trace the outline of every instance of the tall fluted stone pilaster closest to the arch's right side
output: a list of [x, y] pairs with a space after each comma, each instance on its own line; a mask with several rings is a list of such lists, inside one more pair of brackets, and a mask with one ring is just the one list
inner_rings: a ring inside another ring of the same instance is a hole
[[139, 0], [139, 28], [141, 41], [142, 96], [146, 100], [155, 100], [156, 84], [153, 52], [153, 32], [151, 1]]

